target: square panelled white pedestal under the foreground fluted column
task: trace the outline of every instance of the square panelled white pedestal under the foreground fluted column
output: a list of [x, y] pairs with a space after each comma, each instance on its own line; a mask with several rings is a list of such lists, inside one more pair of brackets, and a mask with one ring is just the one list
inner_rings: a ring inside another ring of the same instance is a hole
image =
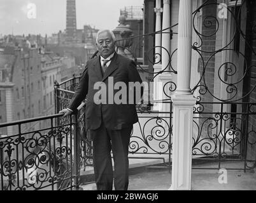
[[173, 164], [169, 190], [191, 190], [193, 95], [174, 93], [173, 100]]

